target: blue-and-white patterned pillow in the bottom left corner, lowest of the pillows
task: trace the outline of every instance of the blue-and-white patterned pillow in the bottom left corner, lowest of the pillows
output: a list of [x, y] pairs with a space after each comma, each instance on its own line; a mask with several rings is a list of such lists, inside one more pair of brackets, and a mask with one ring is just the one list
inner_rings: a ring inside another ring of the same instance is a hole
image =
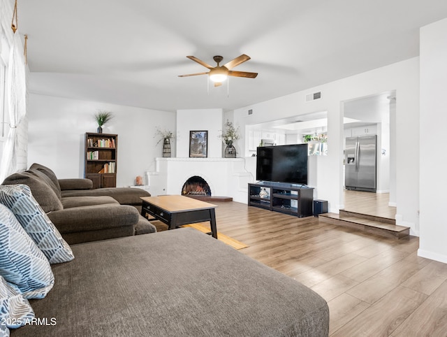
[[[21, 327], [33, 317], [34, 311], [29, 301], [0, 276], [0, 327], [6, 328], [3, 332], [8, 333], [7, 328]], [[0, 336], [5, 336], [5, 334]]]

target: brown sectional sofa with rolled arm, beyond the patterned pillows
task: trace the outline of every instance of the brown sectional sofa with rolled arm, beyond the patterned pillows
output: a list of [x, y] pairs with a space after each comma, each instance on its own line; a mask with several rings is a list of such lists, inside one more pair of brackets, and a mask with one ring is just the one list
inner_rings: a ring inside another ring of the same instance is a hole
[[143, 189], [91, 189], [91, 180], [61, 179], [51, 169], [32, 164], [28, 171], [8, 176], [2, 185], [24, 184], [69, 244], [135, 234], [156, 228], [140, 215]]

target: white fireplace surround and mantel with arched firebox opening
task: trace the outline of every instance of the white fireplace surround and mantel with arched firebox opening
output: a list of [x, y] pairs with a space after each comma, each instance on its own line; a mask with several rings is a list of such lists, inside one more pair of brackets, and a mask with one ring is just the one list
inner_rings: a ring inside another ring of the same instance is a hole
[[212, 196], [247, 203], [247, 184], [254, 180], [244, 158], [156, 158], [155, 167], [147, 172], [152, 195], [182, 194], [186, 180], [198, 175], [210, 185]]

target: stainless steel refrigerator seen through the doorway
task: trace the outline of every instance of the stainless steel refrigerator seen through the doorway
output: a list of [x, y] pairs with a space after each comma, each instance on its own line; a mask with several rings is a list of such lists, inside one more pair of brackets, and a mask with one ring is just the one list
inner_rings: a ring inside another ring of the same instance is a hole
[[377, 136], [346, 138], [344, 186], [376, 192]]

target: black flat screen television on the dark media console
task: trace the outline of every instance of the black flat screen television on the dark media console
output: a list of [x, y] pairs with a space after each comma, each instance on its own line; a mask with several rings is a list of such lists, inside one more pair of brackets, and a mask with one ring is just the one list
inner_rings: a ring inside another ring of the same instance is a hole
[[256, 180], [307, 185], [307, 144], [262, 146], [256, 156]]

